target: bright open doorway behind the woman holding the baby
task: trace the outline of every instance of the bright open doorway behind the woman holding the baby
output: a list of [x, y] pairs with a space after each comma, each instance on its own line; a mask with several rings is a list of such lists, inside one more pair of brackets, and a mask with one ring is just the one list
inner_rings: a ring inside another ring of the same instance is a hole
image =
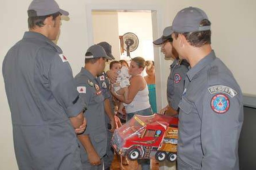
[[[157, 34], [157, 11], [156, 10], [102, 10], [91, 9], [91, 40], [93, 44], [106, 41], [112, 45], [112, 54], [116, 60], [124, 59], [130, 62], [131, 58], [143, 57], [146, 61], [154, 61], [155, 65], [155, 85], [154, 94], [156, 94], [157, 106], [162, 104], [162, 98], [159, 95], [162, 91], [160, 82], [160, 48], [153, 46], [155, 34]], [[154, 24], [153, 24], [154, 23]], [[138, 39], [138, 45], [134, 51], [127, 55], [127, 50], [122, 46], [120, 37], [132, 33]], [[158, 37], [158, 36], [157, 36]], [[128, 57], [129, 56], [129, 57]], [[157, 61], [156, 61], [157, 60]], [[151, 62], [152, 63], [152, 62]], [[105, 70], [109, 69], [109, 63], [106, 64]], [[147, 76], [144, 69], [143, 76]], [[158, 109], [154, 109], [156, 112]]]

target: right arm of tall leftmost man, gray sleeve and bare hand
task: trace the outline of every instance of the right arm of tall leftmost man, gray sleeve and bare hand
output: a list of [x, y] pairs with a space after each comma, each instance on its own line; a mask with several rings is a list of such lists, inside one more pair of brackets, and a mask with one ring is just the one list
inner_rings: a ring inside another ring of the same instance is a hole
[[74, 87], [75, 80], [68, 62], [56, 55], [48, 71], [50, 89], [58, 103], [64, 108], [76, 133], [82, 133], [86, 127], [83, 109], [86, 104]]

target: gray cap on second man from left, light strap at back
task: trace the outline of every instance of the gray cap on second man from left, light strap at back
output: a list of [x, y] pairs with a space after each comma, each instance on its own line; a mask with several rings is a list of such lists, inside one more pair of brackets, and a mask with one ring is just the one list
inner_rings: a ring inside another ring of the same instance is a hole
[[100, 58], [100, 57], [105, 57], [106, 59], [111, 60], [111, 57], [108, 57], [106, 51], [100, 45], [90, 46], [85, 53], [85, 58], [87, 59]]

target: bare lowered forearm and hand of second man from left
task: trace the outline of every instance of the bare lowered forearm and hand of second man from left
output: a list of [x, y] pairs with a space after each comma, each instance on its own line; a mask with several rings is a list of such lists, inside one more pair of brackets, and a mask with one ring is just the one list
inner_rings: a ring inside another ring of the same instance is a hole
[[90, 164], [93, 166], [100, 165], [100, 157], [94, 149], [93, 144], [90, 141], [90, 137], [88, 135], [79, 135], [77, 138], [86, 150]]

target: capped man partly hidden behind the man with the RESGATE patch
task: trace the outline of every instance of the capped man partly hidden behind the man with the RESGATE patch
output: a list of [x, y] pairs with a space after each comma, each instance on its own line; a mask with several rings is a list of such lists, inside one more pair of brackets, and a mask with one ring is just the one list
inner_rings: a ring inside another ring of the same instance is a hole
[[[165, 33], [166, 28], [163, 30]], [[161, 51], [165, 55], [165, 59], [174, 59], [170, 65], [170, 74], [167, 79], [167, 101], [168, 105], [160, 110], [160, 114], [176, 116], [178, 114], [178, 104], [181, 100], [186, 72], [189, 70], [189, 63], [184, 59], [179, 59], [177, 51], [172, 46], [172, 37], [161, 36], [153, 43], [162, 45]]]

